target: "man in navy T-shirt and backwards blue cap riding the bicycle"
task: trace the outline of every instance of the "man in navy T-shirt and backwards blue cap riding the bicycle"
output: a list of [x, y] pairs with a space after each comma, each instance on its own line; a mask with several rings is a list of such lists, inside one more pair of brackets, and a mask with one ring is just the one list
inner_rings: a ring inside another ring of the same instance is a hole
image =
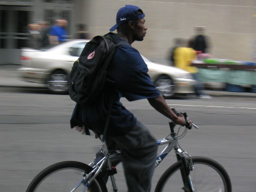
[[[150, 191], [157, 143], [148, 129], [122, 105], [120, 98], [125, 97], [129, 101], [146, 98], [151, 106], [174, 123], [186, 124], [183, 117], [173, 113], [154, 87], [147, 74], [146, 63], [138, 50], [131, 46], [135, 40], [142, 41], [146, 34], [144, 16], [143, 11], [134, 5], [125, 5], [117, 11], [116, 24], [110, 31], [117, 29], [117, 34], [112, 34], [118, 35], [116, 41], [125, 40], [129, 45], [116, 47], [107, 69], [104, 90], [95, 103], [81, 106], [83, 125], [95, 133], [103, 134], [108, 103], [114, 97], [105, 140], [107, 143], [114, 143], [121, 151], [130, 192]], [[77, 125], [72, 119], [71, 122], [72, 127]], [[111, 147], [110, 144], [108, 147]]]

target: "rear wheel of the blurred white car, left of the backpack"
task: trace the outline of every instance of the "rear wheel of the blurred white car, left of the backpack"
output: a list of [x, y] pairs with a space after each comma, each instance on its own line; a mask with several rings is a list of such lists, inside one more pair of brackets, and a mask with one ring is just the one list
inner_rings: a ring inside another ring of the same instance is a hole
[[51, 92], [67, 93], [67, 74], [63, 70], [54, 70], [47, 78], [46, 85]]

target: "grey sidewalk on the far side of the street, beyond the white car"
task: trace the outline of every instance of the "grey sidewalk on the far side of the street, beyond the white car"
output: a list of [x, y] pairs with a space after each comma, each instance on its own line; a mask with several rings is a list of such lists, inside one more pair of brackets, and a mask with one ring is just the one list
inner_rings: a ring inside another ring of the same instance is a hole
[[[18, 88], [45, 88], [45, 84], [26, 82], [18, 77], [17, 68], [20, 65], [0, 65], [0, 87], [18, 87]], [[253, 92], [229, 92], [220, 90], [205, 90], [205, 93], [222, 97], [255, 97]]]

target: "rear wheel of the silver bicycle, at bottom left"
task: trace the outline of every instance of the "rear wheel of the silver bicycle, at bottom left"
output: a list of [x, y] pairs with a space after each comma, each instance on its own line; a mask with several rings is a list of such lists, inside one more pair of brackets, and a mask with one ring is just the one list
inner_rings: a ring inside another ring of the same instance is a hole
[[[77, 161], [63, 161], [52, 164], [39, 172], [30, 182], [26, 192], [71, 191], [83, 178], [82, 173], [92, 170], [87, 164]], [[75, 191], [81, 191], [81, 184]], [[101, 178], [94, 178], [85, 191], [106, 192], [106, 185]]]

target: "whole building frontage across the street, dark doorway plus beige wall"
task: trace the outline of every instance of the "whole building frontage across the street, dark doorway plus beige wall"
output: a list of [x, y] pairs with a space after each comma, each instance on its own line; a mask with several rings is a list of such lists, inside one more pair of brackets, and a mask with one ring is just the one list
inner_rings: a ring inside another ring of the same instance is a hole
[[52, 26], [56, 19], [67, 21], [68, 39], [78, 24], [90, 38], [107, 33], [125, 4], [139, 6], [146, 15], [146, 38], [133, 46], [152, 60], [167, 62], [175, 38], [191, 38], [203, 27], [207, 53], [214, 58], [255, 61], [255, 0], [1, 0], [0, 64], [19, 64], [31, 30]]

